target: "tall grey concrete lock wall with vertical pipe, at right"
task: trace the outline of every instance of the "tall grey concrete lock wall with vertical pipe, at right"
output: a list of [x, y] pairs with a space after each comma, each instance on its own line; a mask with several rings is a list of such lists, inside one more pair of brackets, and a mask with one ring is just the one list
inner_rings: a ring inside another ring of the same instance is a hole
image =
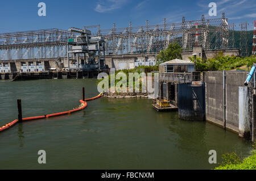
[[[239, 133], [239, 87], [246, 71], [226, 71], [226, 129]], [[206, 120], [224, 126], [223, 72], [204, 73]]]

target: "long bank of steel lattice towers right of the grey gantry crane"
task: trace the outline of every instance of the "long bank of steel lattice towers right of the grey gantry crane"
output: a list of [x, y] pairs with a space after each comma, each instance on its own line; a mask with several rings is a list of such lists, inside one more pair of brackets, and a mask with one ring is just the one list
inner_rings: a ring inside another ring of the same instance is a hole
[[[92, 26], [93, 27], [93, 26]], [[97, 32], [95, 32], [97, 33]], [[234, 25], [228, 24], [225, 14], [222, 18], [187, 21], [180, 23], [113, 28], [100, 31], [106, 40], [106, 54], [158, 53], [177, 42], [184, 51], [191, 51], [194, 45], [202, 45], [204, 50], [232, 49], [234, 47]]]

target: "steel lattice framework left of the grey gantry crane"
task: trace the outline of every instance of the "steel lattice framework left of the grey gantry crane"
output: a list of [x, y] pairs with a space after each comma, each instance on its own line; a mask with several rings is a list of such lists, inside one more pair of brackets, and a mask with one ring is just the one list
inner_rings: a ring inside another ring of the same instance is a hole
[[0, 60], [59, 58], [67, 54], [67, 42], [73, 33], [60, 29], [0, 34]]

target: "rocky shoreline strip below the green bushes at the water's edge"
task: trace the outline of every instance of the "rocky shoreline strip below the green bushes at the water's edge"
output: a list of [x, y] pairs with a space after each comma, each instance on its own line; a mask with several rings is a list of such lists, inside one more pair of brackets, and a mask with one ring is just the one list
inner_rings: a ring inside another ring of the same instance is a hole
[[148, 98], [147, 93], [123, 93], [123, 92], [104, 92], [103, 96], [105, 98], [115, 98], [115, 99], [130, 99], [130, 98], [137, 98], [143, 99]]

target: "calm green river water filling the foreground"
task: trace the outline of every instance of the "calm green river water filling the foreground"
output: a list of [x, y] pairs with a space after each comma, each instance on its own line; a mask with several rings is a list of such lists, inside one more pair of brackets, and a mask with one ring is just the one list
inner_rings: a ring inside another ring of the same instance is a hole
[[[98, 95], [96, 79], [0, 81], [0, 127], [18, 117], [79, 106]], [[46, 150], [46, 164], [38, 151]], [[209, 150], [242, 157], [251, 143], [216, 125], [158, 113], [148, 99], [100, 98], [71, 115], [16, 124], [0, 133], [0, 169], [213, 169]]]

